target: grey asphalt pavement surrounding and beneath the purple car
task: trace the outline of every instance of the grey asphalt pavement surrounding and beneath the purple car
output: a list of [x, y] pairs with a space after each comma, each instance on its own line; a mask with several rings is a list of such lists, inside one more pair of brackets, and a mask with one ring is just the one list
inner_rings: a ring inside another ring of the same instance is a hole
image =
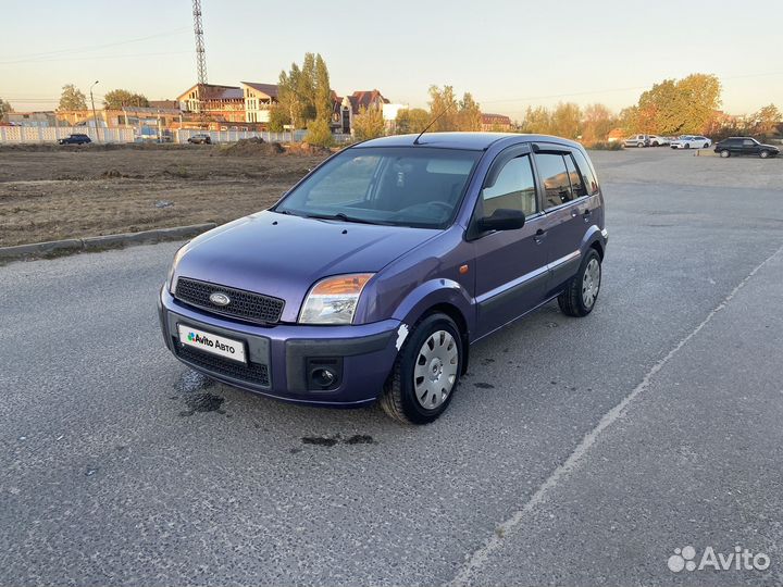
[[188, 372], [176, 243], [0, 267], [0, 584], [783, 583], [783, 161], [594, 161], [598, 307], [476, 346], [426, 427]]

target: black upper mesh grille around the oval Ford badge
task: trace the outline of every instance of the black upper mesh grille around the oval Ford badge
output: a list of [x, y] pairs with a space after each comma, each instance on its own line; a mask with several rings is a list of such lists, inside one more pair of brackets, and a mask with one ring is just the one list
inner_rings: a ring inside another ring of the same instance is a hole
[[[228, 296], [231, 299], [228, 305], [217, 305], [210, 301], [210, 296], [215, 291]], [[279, 298], [208, 284], [189, 277], [179, 277], [177, 279], [174, 297], [185, 303], [203, 308], [216, 314], [264, 324], [274, 324], [279, 321], [285, 305], [285, 301]]]

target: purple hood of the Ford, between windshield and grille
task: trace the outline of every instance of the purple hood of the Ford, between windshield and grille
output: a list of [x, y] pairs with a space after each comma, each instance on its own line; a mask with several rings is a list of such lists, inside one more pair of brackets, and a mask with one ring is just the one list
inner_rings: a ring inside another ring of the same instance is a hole
[[260, 212], [191, 240], [174, 279], [190, 277], [285, 300], [296, 322], [312, 285], [346, 273], [376, 273], [440, 230]]

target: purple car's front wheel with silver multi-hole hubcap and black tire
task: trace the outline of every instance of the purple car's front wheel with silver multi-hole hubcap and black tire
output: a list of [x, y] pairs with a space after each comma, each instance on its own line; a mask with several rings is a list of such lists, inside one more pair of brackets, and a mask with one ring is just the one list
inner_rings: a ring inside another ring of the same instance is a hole
[[457, 390], [463, 357], [462, 337], [450, 317], [435, 313], [421, 320], [397, 353], [380, 398], [384, 412], [401, 424], [437, 420]]

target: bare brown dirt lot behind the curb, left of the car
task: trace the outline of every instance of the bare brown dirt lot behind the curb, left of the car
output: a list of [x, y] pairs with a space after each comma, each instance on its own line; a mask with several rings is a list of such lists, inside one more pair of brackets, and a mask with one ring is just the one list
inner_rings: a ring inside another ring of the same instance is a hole
[[0, 247], [232, 221], [325, 154], [269, 145], [0, 148]]

